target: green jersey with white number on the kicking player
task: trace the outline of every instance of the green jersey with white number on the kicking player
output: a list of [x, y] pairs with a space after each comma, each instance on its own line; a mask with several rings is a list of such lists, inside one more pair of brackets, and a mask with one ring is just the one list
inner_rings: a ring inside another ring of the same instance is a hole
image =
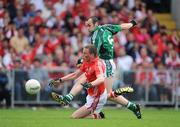
[[109, 60], [114, 57], [113, 35], [121, 31], [120, 25], [106, 24], [97, 26], [91, 33], [91, 43], [97, 48], [101, 59]]

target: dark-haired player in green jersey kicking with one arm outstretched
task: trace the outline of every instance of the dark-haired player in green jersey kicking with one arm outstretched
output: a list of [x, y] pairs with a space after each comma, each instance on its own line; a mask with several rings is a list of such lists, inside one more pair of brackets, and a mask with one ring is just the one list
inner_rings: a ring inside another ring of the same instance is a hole
[[[135, 104], [133, 102], [128, 101], [125, 97], [121, 96], [122, 93], [129, 93], [128, 87], [123, 89], [119, 88], [112, 91], [112, 84], [113, 84], [113, 76], [116, 70], [116, 65], [113, 61], [113, 53], [114, 53], [114, 39], [113, 36], [121, 30], [126, 30], [134, 27], [136, 22], [134, 20], [130, 21], [129, 23], [123, 23], [120, 25], [112, 25], [112, 24], [105, 24], [99, 25], [97, 17], [90, 17], [86, 22], [85, 25], [90, 32], [91, 42], [95, 45], [99, 58], [101, 58], [106, 66], [106, 79], [105, 85], [107, 92], [109, 94], [108, 100], [114, 101], [118, 104], [126, 106], [129, 110], [133, 111], [134, 114], [138, 119], [141, 119], [141, 112], [139, 104]], [[73, 96], [75, 96], [80, 90], [80, 87], [77, 87], [79, 84], [82, 84], [85, 77], [82, 75], [77, 83], [73, 86], [72, 90], [68, 95], [65, 96], [65, 100], [69, 103]], [[60, 79], [52, 80], [51, 85], [55, 84], [55, 82], [61, 81]], [[77, 89], [76, 89], [77, 88]], [[70, 97], [70, 98], [69, 98]]]

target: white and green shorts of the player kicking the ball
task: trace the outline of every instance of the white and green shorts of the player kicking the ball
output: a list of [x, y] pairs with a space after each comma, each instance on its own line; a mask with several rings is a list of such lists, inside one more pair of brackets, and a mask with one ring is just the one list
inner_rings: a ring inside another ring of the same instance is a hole
[[114, 63], [113, 59], [110, 60], [104, 60], [101, 59], [106, 67], [106, 77], [114, 77], [115, 75], [115, 71], [116, 71], [116, 64]]

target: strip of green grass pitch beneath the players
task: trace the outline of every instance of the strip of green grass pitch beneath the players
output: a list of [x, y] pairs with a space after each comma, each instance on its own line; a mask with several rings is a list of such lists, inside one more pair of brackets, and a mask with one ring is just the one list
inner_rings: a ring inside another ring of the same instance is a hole
[[105, 108], [106, 119], [70, 119], [73, 109], [0, 109], [0, 127], [180, 127], [174, 109], [143, 109], [138, 120], [129, 110]]

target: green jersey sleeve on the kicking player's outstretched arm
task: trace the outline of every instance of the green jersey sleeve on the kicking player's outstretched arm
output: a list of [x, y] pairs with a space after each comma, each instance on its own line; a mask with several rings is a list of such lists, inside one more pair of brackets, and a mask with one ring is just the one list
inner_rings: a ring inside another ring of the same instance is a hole
[[113, 35], [122, 30], [120, 25], [105, 24], [105, 25], [102, 25], [102, 27], [110, 31]]

